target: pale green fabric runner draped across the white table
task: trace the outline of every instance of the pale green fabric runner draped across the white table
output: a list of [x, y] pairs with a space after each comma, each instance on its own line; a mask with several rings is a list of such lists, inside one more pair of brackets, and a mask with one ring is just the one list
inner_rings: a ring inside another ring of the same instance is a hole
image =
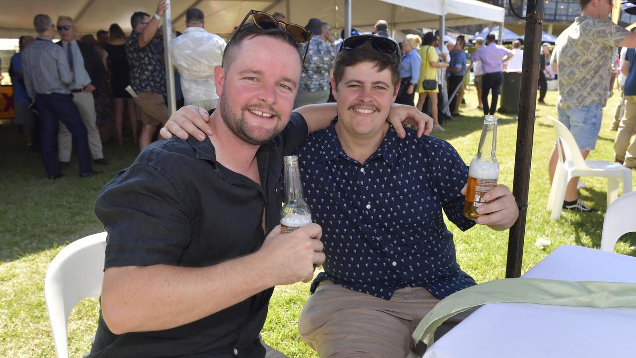
[[636, 283], [504, 278], [460, 290], [439, 301], [413, 332], [413, 340], [431, 347], [435, 330], [457, 313], [487, 303], [556, 306], [636, 307]]

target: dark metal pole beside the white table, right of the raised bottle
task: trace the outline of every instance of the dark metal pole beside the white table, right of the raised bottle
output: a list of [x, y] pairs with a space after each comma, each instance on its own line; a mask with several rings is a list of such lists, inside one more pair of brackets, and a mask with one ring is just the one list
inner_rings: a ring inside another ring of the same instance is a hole
[[[530, 164], [532, 160], [532, 137], [537, 105], [537, 85], [539, 82], [539, 55], [541, 54], [541, 31], [543, 27], [543, 8], [545, 0], [537, 1], [532, 18], [525, 21], [523, 39], [523, 65], [521, 92], [519, 99], [519, 117], [517, 121], [517, 143], [515, 153], [515, 175], [513, 195], [519, 208], [519, 218], [508, 234], [508, 260], [506, 277], [519, 277], [523, 259], [523, 239], [525, 238], [525, 217], [528, 208], [530, 187]], [[528, 11], [532, 10], [528, 2]]]

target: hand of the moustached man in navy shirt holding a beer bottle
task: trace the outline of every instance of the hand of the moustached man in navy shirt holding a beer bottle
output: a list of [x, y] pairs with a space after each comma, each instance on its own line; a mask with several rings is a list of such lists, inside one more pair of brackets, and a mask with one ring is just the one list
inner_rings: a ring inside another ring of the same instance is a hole
[[[466, 185], [462, 189], [462, 194], [466, 195]], [[513, 193], [506, 185], [497, 185], [487, 192], [483, 199], [490, 203], [483, 204], [477, 209], [478, 213], [483, 214], [482, 217], [476, 218], [477, 224], [487, 225], [499, 231], [509, 229], [515, 224], [519, 217], [519, 208], [516, 206]]]

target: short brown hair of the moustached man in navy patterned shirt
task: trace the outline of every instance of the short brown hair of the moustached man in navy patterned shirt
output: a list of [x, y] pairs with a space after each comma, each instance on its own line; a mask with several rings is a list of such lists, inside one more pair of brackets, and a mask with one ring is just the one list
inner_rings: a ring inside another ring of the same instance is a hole
[[336, 86], [345, 75], [345, 68], [356, 66], [361, 62], [375, 62], [375, 67], [378, 68], [378, 72], [389, 68], [391, 70], [391, 80], [393, 82], [394, 91], [397, 90], [397, 85], [400, 81], [399, 59], [396, 58], [395, 54], [388, 54], [387, 52], [376, 50], [371, 45], [371, 41], [366, 41], [359, 47], [351, 50], [340, 51], [333, 65], [333, 79], [336, 82]]

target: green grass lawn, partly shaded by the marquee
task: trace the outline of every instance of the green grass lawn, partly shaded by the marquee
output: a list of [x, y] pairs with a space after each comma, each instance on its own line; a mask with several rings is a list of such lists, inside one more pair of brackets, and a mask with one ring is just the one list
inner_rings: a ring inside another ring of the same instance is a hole
[[[476, 154], [481, 133], [481, 110], [476, 110], [476, 94], [466, 94], [469, 101], [460, 117], [450, 122], [445, 132], [435, 136], [450, 141], [464, 161]], [[523, 272], [560, 245], [582, 245], [598, 248], [603, 224], [606, 180], [584, 178], [586, 189], [581, 197], [598, 208], [600, 213], [563, 212], [558, 222], [550, 221], [545, 210], [550, 193], [547, 161], [554, 134], [546, 117], [556, 117], [556, 92], [549, 92], [549, 106], [537, 107], [537, 122], [532, 151], [532, 175], [527, 214]], [[610, 99], [597, 149], [590, 159], [612, 160], [614, 136], [609, 131], [618, 96]], [[501, 116], [499, 120], [497, 159], [501, 165], [500, 183], [512, 186], [515, 158], [516, 117]], [[0, 357], [55, 357], [43, 286], [46, 269], [53, 257], [67, 243], [88, 234], [103, 231], [93, 215], [93, 202], [102, 186], [116, 172], [125, 168], [137, 155], [134, 145], [105, 145], [107, 167], [97, 167], [103, 173], [92, 178], [79, 178], [73, 162], [64, 170], [66, 176], [50, 182], [46, 179], [41, 157], [29, 152], [15, 127], [0, 127]], [[635, 183], [636, 183], [636, 177]], [[477, 282], [504, 277], [508, 231], [495, 232], [487, 227], [474, 227], [462, 233], [449, 225], [455, 234], [457, 256], [462, 269]], [[550, 247], [539, 250], [537, 238], [551, 240]], [[619, 241], [616, 251], [636, 255], [636, 235]], [[270, 314], [263, 329], [263, 339], [290, 357], [317, 357], [298, 338], [297, 324], [301, 307], [308, 297], [309, 284], [277, 287], [270, 303]], [[87, 299], [78, 304], [69, 320], [69, 351], [79, 357], [90, 349], [90, 340], [97, 326], [99, 304]]]

